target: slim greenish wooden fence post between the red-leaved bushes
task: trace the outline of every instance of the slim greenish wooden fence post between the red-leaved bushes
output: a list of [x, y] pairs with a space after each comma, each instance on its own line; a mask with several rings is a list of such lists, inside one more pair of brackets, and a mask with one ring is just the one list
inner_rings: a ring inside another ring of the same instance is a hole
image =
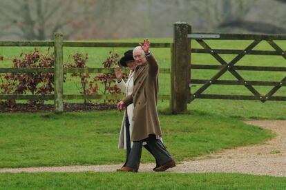
[[63, 34], [55, 33], [55, 113], [64, 112], [64, 61], [63, 61]]

